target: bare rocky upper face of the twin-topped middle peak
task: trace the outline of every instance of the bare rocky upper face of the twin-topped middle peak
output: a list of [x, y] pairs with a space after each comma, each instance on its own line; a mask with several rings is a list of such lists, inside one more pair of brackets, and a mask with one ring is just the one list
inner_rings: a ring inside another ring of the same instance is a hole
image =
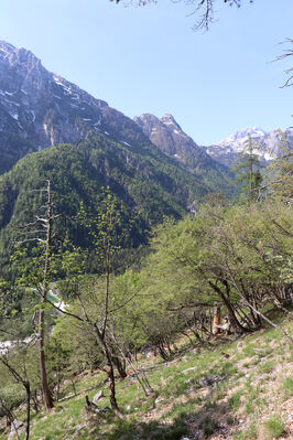
[[145, 114], [134, 117], [134, 121], [143, 130], [144, 135], [165, 154], [174, 157], [183, 162], [188, 169], [199, 171], [205, 167], [213, 165], [213, 159], [205, 149], [198, 147], [175, 121], [172, 115], [156, 118]]

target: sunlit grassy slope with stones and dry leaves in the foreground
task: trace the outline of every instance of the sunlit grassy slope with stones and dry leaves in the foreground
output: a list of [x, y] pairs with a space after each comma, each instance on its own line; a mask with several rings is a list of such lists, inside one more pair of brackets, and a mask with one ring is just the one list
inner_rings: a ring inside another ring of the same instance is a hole
[[[292, 331], [289, 321], [282, 325]], [[86, 394], [93, 398], [105, 387], [106, 397], [98, 406], [107, 406], [109, 400], [107, 385], [98, 385], [104, 374], [85, 374], [78, 378], [77, 396], [73, 396], [70, 384], [66, 383], [64, 398], [52, 414], [33, 416], [31, 439], [290, 438], [293, 409], [290, 347], [274, 329], [234, 342], [219, 339], [208, 351], [187, 351], [170, 363], [155, 358], [142, 359], [141, 364], [149, 369], [148, 378], [155, 395], [145, 399], [133, 377], [118, 383], [118, 401], [127, 414], [124, 420], [119, 421], [111, 414], [86, 416]], [[198, 379], [213, 375], [225, 379], [215, 386], [198, 384]], [[0, 440], [7, 438], [0, 433]]]

